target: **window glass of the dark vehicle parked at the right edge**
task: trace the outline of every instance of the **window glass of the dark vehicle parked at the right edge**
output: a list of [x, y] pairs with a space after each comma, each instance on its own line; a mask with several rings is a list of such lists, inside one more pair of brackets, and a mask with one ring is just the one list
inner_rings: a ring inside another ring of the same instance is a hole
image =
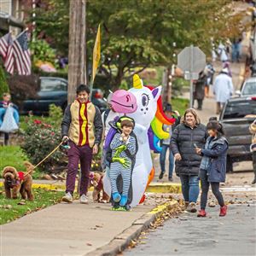
[[247, 114], [256, 114], [256, 101], [228, 102], [223, 119], [243, 118]]

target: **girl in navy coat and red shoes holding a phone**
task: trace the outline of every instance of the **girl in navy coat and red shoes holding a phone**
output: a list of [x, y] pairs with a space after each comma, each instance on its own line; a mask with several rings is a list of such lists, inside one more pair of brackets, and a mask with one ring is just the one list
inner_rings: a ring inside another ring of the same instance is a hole
[[219, 183], [224, 183], [226, 174], [226, 161], [229, 143], [224, 137], [222, 125], [218, 121], [210, 121], [207, 124], [209, 137], [205, 148], [195, 148], [196, 153], [202, 155], [199, 177], [201, 180], [201, 210], [198, 217], [206, 217], [207, 195], [211, 183], [212, 193], [220, 206], [219, 216], [227, 213], [223, 195], [219, 191]]

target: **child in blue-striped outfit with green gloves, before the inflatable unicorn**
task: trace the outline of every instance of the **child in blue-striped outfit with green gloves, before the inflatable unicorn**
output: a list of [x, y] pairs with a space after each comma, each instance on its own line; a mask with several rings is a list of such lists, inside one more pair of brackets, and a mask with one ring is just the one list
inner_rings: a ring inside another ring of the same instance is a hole
[[[113, 207], [127, 207], [129, 189], [131, 188], [131, 173], [137, 153], [137, 139], [131, 136], [134, 122], [131, 118], [122, 117], [117, 122], [119, 131], [110, 143], [108, 150], [108, 161], [110, 162], [110, 183]], [[109, 153], [111, 157], [109, 158]], [[122, 177], [122, 189], [118, 188], [118, 177]]]

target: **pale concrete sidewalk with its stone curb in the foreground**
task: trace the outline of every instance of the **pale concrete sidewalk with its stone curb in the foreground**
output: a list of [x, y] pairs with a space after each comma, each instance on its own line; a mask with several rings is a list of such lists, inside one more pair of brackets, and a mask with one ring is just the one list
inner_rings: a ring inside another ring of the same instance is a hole
[[[131, 212], [110, 211], [109, 204], [61, 203], [1, 226], [4, 256], [115, 255], [166, 209], [177, 207], [168, 196], [149, 197]], [[156, 207], [165, 203], [162, 206]]]

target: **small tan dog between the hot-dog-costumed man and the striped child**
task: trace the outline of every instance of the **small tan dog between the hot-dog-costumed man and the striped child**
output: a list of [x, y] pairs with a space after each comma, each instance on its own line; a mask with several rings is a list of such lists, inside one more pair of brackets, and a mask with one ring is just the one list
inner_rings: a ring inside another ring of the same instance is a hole
[[[102, 203], [108, 203], [110, 198], [105, 193], [103, 189], [103, 182], [102, 178], [104, 177], [104, 174], [100, 174], [98, 172], [90, 172], [90, 186], [94, 187], [94, 190], [92, 192], [92, 199], [94, 202], [102, 202]], [[101, 191], [102, 191], [102, 199], [101, 199]]]

